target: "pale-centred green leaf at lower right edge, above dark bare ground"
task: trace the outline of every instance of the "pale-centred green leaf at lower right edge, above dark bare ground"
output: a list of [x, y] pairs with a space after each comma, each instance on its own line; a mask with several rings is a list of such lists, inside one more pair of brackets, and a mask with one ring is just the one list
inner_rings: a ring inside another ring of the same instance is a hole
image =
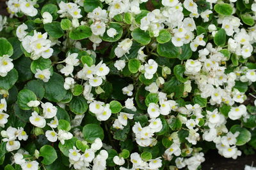
[[237, 139], [237, 142], [236, 142], [237, 146], [244, 145], [245, 143], [250, 141], [251, 136], [252, 136], [250, 131], [248, 131], [244, 127], [241, 127], [240, 125], [233, 125], [230, 128], [230, 132], [232, 132], [233, 134], [236, 133], [236, 132], [239, 132], [239, 136], [237, 136], [237, 138], [236, 138]]

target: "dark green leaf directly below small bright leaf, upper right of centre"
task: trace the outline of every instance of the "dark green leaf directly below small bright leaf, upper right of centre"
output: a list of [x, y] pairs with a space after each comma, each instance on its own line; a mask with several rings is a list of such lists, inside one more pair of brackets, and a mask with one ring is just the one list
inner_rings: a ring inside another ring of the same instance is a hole
[[170, 59], [177, 58], [180, 54], [180, 48], [174, 46], [172, 41], [157, 45], [157, 53], [163, 57]]

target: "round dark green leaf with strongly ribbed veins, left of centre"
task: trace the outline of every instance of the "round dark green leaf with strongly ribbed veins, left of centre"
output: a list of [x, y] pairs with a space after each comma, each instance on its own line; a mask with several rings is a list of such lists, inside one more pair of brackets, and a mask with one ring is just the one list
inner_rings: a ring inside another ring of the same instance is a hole
[[74, 96], [69, 103], [69, 108], [76, 115], [82, 115], [88, 110], [88, 104], [84, 97]]

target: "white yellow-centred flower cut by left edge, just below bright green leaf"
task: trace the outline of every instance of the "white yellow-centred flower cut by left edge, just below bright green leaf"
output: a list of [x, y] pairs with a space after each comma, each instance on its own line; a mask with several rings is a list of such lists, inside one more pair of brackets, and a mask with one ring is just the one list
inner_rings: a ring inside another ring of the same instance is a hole
[[13, 69], [13, 59], [10, 59], [10, 56], [3, 55], [0, 57], [0, 76], [6, 76], [9, 71]]

